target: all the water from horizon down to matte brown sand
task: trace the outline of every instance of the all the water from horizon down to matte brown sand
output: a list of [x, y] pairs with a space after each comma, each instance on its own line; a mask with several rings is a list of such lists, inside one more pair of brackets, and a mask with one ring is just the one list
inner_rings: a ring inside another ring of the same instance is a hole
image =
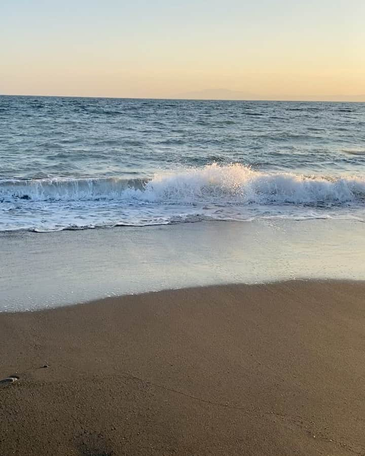
[[0, 97], [0, 311], [364, 280], [365, 103]]

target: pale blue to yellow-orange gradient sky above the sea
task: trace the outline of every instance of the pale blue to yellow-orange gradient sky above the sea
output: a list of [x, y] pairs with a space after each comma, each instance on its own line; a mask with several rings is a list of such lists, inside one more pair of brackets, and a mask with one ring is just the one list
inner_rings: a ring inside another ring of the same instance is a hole
[[364, 0], [3, 0], [0, 18], [0, 94], [365, 101]]

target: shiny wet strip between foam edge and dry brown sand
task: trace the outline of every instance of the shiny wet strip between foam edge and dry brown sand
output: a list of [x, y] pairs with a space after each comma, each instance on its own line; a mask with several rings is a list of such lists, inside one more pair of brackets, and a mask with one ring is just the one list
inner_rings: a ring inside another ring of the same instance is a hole
[[361, 280], [363, 251], [364, 225], [351, 220], [0, 234], [0, 311], [226, 283]]

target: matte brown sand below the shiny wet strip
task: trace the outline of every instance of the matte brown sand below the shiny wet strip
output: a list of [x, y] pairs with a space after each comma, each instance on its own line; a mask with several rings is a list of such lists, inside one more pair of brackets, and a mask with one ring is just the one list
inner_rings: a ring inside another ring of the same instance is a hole
[[[42, 367], [49, 364], [49, 367]], [[365, 283], [0, 314], [0, 454], [365, 454]]]

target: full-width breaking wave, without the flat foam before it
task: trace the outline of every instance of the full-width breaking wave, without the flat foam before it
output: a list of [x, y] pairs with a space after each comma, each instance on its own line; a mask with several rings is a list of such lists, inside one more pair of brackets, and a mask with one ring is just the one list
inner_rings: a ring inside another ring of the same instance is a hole
[[363, 203], [361, 177], [255, 171], [240, 164], [156, 173], [152, 179], [49, 178], [0, 181], [0, 201], [322, 205]]

